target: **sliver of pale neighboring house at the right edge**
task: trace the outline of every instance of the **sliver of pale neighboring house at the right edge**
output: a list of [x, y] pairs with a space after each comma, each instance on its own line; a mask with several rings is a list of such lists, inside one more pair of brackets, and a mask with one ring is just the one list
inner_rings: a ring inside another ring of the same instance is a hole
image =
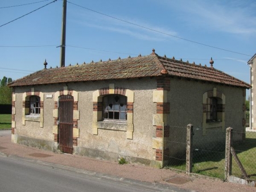
[[250, 81], [251, 81], [251, 90], [250, 90], [250, 128], [256, 130], [256, 89], [253, 88], [256, 85], [256, 54], [251, 57], [247, 64], [250, 66]]

